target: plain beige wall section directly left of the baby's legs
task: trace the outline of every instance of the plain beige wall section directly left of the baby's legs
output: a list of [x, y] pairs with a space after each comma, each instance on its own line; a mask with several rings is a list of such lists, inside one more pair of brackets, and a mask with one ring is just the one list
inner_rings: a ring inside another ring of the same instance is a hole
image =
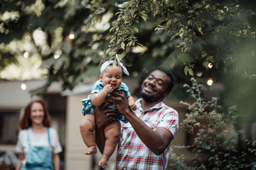
[[67, 97], [65, 169], [92, 169], [92, 155], [84, 155], [87, 147], [79, 132], [79, 123], [83, 119], [81, 99], [87, 95]]

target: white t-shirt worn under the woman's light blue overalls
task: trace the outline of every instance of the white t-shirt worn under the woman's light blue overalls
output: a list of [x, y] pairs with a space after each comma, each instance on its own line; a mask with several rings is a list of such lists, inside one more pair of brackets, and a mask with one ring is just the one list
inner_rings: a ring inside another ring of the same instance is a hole
[[[49, 146], [47, 131], [43, 134], [35, 134], [31, 131], [30, 128], [28, 131], [29, 131], [29, 138], [30, 138], [31, 146]], [[60, 145], [60, 140], [59, 140], [57, 131], [50, 127], [49, 132], [50, 132], [52, 152], [53, 153], [62, 152], [62, 148]], [[16, 145], [16, 151], [19, 153], [25, 154], [25, 159], [22, 161], [23, 164], [26, 164], [26, 154], [28, 153], [28, 148], [29, 148], [28, 134], [27, 134], [26, 129], [24, 129], [19, 132], [18, 142]]]

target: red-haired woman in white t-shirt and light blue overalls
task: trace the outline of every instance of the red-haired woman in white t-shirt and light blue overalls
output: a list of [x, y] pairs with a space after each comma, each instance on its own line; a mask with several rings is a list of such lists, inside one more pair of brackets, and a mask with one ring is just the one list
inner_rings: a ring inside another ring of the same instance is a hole
[[16, 170], [60, 169], [62, 151], [58, 133], [51, 128], [51, 117], [45, 103], [31, 101], [20, 120], [19, 138], [16, 146], [19, 152]]

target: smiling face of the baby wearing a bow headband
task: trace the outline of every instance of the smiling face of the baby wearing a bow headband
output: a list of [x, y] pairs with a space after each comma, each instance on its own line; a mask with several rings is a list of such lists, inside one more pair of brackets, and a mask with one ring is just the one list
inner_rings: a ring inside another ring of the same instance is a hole
[[111, 84], [111, 87], [117, 89], [122, 83], [122, 67], [107, 66], [100, 74], [100, 80], [103, 85]]

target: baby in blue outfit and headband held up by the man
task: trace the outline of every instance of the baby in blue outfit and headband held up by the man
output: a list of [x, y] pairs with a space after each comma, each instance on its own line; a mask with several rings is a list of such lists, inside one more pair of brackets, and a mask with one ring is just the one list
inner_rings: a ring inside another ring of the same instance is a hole
[[[95, 118], [93, 115], [93, 107], [100, 107], [107, 96], [113, 96], [113, 90], [121, 90], [127, 97], [129, 107], [136, 110], [133, 97], [129, 93], [129, 89], [125, 83], [122, 82], [122, 73], [129, 76], [129, 72], [123, 66], [116, 55], [116, 66], [113, 66], [114, 60], [104, 62], [100, 67], [100, 80], [96, 81], [92, 87], [92, 92], [87, 99], [82, 99], [83, 103], [83, 129], [80, 129], [81, 136], [84, 143], [88, 146], [86, 155], [97, 153], [93, 131], [95, 131]], [[109, 108], [116, 109], [115, 106], [108, 106]], [[111, 124], [107, 125], [104, 129], [106, 143], [103, 150], [103, 155], [99, 161], [99, 166], [105, 168], [108, 163], [109, 157], [115, 151], [118, 139], [120, 136], [120, 122], [128, 122], [124, 115], [120, 114]]]

